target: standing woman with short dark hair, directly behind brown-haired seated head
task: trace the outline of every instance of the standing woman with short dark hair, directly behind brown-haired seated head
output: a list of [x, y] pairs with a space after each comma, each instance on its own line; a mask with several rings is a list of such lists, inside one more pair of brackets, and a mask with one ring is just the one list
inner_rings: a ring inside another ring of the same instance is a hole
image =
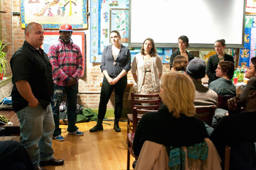
[[187, 36], [180, 36], [178, 39], [178, 44], [179, 44], [179, 49], [176, 50], [176, 52], [172, 53], [171, 58], [170, 58], [170, 69], [172, 70], [172, 64], [174, 62], [174, 58], [176, 56], [184, 56], [188, 59], [188, 62], [191, 61], [194, 56], [192, 53], [187, 52], [186, 48], [189, 47], [188, 43], [188, 37]]

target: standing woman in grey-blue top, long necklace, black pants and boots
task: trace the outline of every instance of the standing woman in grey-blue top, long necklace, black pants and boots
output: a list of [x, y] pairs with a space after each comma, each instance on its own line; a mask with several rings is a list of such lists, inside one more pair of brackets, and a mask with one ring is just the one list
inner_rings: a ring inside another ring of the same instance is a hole
[[104, 73], [104, 78], [98, 106], [98, 121], [97, 125], [90, 129], [90, 132], [103, 130], [102, 121], [113, 90], [115, 90], [114, 129], [116, 132], [121, 131], [118, 122], [123, 109], [123, 94], [127, 84], [127, 73], [131, 69], [131, 53], [126, 46], [121, 44], [120, 39], [121, 36], [118, 31], [110, 32], [112, 44], [106, 46], [102, 53], [101, 71]]

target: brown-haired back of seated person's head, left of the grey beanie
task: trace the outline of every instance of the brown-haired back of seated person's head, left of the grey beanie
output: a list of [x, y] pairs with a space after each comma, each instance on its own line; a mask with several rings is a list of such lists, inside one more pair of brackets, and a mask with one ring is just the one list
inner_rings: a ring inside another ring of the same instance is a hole
[[188, 65], [188, 59], [186, 57], [177, 56], [174, 58], [174, 62], [172, 63], [173, 69], [171, 69], [171, 73], [175, 73], [175, 72], [185, 73], [187, 65]]

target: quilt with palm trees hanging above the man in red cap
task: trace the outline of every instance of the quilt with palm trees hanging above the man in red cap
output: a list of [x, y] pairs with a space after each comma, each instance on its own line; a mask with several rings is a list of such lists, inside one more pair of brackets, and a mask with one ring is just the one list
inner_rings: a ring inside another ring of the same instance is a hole
[[22, 28], [36, 21], [46, 29], [58, 29], [64, 23], [86, 29], [87, 9], [87, 0], [20, 0], [20, 23]]

